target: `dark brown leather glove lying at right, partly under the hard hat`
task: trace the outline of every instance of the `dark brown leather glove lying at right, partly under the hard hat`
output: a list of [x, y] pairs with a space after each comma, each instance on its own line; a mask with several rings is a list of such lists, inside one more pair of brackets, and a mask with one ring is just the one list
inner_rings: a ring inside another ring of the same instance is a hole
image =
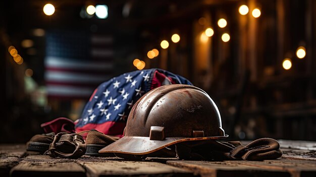
[[282, 156], [278, 141], [254, 140], [246, 146], [239, 141], [188, 141], [175, 145], [177, 157], [194, 160], [268, 160]]

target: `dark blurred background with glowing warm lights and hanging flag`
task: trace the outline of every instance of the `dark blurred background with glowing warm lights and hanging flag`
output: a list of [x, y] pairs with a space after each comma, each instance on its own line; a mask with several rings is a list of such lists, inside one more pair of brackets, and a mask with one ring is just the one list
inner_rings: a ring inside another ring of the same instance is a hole
[[316, 140], [315, 34], [312, 0], [1, 1], [0, 142], [149, 68], [205, 90], [230, 139]]

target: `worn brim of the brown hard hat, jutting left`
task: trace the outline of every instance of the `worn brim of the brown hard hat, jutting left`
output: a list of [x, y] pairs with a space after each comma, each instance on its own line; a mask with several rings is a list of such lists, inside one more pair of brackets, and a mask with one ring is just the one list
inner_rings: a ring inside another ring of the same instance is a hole
[[99, 150], [99, 153], [123, 153], [123, 154], [135, 154], [143, 155], [155, 152], [162, 148], [168, 147], [170, 145], [185, 142], [185, 141], [198, 141], [198, 140], [218, 140], [227, 138], [225, 136], [216, 136], [216, 137], [198, 137], [198, 138], [189, 138], [189, 137], [170, 137], [166, 138], [163, 141], [159, 140], [149, 140], [149, 137], [132, 137], [125, 136], [118, 141], [102, 148]]

